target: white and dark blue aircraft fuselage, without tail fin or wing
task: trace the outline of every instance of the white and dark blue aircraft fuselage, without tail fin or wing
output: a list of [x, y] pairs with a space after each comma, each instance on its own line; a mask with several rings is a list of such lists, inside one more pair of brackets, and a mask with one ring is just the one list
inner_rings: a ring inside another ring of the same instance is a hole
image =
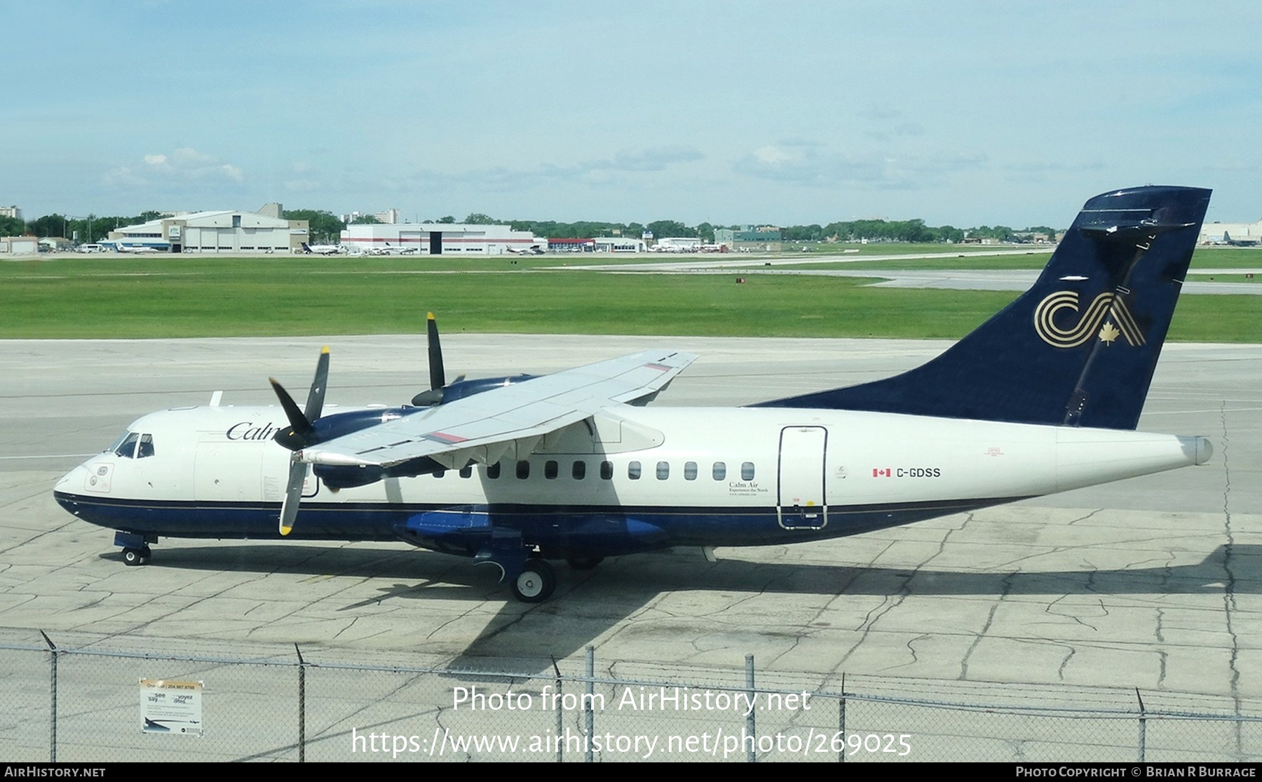
[[[153, 413], [129, 428], [134, 445], [87, 460], [54, 494], [85, 520], [146, 539], [280, 539], [290, 454], [273, 436], [285, 426], [278, 407]], [[319, 474], [355, 467], [317, 465], [290, 537], [473, 556], [492, 529], [514, 531], [550, 558], [786, 543], [1201, 464], [1209, 450], [1199, 437], [1119, 430], [618, 407], [491, 466], [334, 491]]]

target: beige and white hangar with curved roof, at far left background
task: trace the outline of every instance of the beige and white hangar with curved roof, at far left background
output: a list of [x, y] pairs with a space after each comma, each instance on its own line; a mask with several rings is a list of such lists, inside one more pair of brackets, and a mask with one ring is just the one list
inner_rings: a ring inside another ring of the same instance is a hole
[[307, 220], [285, 220], [279, 203], [257, 212], [175, 212], [110, 231], [100, 244], [145, 246], [164, 253], [294, 253], [308, 240]]

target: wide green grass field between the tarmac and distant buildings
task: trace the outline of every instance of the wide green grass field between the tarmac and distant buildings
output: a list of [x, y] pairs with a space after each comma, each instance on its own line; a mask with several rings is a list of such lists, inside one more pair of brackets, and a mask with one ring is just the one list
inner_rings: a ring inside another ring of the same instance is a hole
[[[1016, 297], [870, 288], [859, 278], [752, 274], [737, 284], [736, 274], [505, 267], [411, 258], [3, 263], [0, 339], [415, 334], [430, 310], [444, 332], [957, 339]], [[1258, 315], [1257, 297], [1185, 296], [1170, 337], [1262, 341]]]

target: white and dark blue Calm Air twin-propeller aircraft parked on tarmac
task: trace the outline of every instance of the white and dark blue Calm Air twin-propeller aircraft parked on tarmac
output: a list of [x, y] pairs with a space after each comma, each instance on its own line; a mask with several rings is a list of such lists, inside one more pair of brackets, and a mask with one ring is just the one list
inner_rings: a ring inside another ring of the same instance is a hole
[[[695, 356], [645, 351], [539, 378], [447, 384], [322, 416], [169, 409], [54, 490], [144, 563], [162, 536], [405, 541], [492, 562], [544, 600], [548, 560], [818, 541], [1203, 464], [1133, 431], [1209, 203], [1140, 187], [1087, 202], [1035, 286], [928, 364], [733, 408], [642, 407]], [[278, 524], [279, 522], [279, 524]]]

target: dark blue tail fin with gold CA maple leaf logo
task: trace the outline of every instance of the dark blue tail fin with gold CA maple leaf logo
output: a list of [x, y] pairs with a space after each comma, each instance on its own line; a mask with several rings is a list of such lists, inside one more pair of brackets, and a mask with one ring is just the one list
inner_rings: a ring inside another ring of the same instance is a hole
[[936, 359], [756, 407], [1133, 430], [1209, 193], [1137, 187], [1095, 196], [1039, 282]]

